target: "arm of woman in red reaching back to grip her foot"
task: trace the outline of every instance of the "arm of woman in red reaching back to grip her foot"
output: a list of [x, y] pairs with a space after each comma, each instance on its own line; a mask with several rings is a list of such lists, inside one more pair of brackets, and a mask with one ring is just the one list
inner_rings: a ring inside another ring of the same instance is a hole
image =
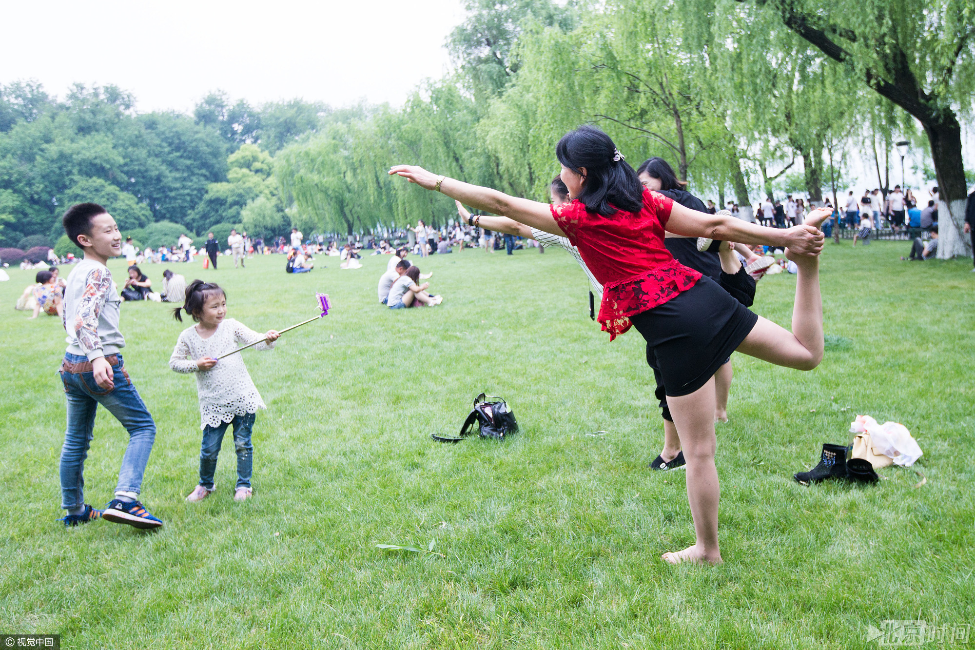
[[806, 217], [806, 223], [791, 228], [769, 228], [726, 215], [697, 212], [675, 202], [674, 207], [671, 208], [667, 229], [676, 234], [692, 237], [779, 246], [788, 248], [798, 255], [819, 255], [823, 250], [825, 238], [817, 226], [832, 213], [829, 208], [817, 208]]

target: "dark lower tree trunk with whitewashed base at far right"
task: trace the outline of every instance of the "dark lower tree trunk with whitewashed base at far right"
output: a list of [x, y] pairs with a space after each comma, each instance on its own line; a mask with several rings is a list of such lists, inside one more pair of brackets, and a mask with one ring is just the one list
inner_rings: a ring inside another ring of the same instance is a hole
[[971, 239], [963, 232], [968, 186], [961, 159], [961, 127], [951, 112], [949, 119], [942, 119], [940, 124], [924, 124], [924, 132], [931, 143], [931, 158], [938, 175], [938, 259], [971, 257]]

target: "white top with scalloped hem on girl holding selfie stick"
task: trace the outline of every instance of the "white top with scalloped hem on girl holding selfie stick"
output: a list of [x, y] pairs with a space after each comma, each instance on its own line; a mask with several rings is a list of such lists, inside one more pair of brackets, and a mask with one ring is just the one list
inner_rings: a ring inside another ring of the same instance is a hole
[[[196, 373], [196, 389], [200, 395], [200, 428], [219, 427], [231, 422], [234, 416], [256, 413], [267, 408], [251, 381], [244, 365], [243, 352], [231, 354], [216, 362], [210, 370], [200, 370], [194, 359], [215, 358], [237, 348], [260, 341], [264, 335], [246, 327], [233, 318], [221, 322], [209, 339], [203, 339], [196, 327], [188, 327], [179, 335], [170, 368], [177, 373]], [[252, 349], [272, 349], [274, 344], [260, 343]]]

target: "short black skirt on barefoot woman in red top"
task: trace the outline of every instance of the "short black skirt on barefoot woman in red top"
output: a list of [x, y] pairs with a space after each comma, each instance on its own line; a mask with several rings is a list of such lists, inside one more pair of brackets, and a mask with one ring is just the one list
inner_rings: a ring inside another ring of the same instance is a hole
[[[759, 322], [759, 316], [707, 275], [630, 322], [646, 341], [647, 363], [667, 395], [688, 395], [708, 383]], [[655, 365], [654, 365], [655, 361]]]

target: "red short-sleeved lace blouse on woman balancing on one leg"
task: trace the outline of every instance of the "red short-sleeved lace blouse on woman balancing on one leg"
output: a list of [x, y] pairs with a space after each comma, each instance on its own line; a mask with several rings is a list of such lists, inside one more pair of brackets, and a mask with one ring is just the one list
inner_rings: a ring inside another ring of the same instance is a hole
[[663, 305], [701, 278], [664, 246], [673, 206], [672, 199], [648, 189], [640, 214], [621, 210], [603, 217], [577, 200], [552, 206], [556, 223], [603, 284], [599, 321], [609, 341], [630, 329], [629, 316]]

